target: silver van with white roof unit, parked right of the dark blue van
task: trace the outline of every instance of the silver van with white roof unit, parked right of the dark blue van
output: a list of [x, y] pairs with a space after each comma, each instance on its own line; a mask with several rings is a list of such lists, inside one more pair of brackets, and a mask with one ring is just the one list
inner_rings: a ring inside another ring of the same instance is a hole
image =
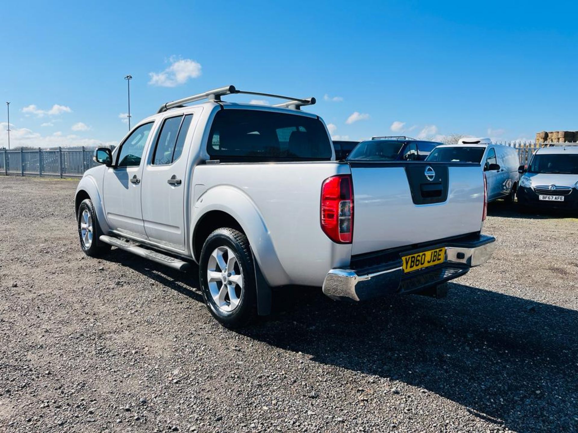
[[439, 145], [425, 160], [479, 163], [486, 173], [488, 201], [505, 199], [512, 203], [520, 180], [518, 152], [513, 147], [483, 141], [480, 139]]

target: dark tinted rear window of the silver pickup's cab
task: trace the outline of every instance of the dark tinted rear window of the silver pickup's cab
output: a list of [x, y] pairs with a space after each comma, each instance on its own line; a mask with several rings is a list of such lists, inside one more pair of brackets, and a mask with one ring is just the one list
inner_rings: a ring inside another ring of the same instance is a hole
[[231, 162], [330, 160], [332, 144], [317, 118], [262, 110], [220, 110], [207, 152]]

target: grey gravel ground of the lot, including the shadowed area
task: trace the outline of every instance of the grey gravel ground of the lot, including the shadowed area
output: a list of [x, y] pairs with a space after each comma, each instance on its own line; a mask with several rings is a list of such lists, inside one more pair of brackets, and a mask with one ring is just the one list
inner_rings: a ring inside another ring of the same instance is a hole
[[234, 332], [196, 271], [84, 256], [75, 187], [0, 177], [0, 431], [578, 431], [577, 219], [497, 204], [443, 300], [295, 288]]

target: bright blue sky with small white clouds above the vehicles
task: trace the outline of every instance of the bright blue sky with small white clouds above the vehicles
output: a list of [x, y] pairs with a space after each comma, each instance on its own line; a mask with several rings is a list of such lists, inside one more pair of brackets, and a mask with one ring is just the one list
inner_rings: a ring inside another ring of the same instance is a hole
[[577, 2], [91, 3], [3, 5], [12, 145], [117, 143], [126, 74], [133, 122], [234, 84], [316, 96], [350, 139], [578, 129]]

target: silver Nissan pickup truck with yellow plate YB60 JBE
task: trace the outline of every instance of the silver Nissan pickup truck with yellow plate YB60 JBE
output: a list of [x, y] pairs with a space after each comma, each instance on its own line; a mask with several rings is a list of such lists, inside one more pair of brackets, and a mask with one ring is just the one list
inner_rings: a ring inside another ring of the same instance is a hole
[[229, 327], [268, 314], [272, 288], [442, 296], [442, 283], [486, 262], [495, 239], [480, 233], [478, 164], [338, 162], [323, 120], [300, 109], [314, 102], [227, 86], [163, 104], [114, 151], [95, 151], [102, 165], [76, 190], [81, 248], [197, 263], [206, 305]]

